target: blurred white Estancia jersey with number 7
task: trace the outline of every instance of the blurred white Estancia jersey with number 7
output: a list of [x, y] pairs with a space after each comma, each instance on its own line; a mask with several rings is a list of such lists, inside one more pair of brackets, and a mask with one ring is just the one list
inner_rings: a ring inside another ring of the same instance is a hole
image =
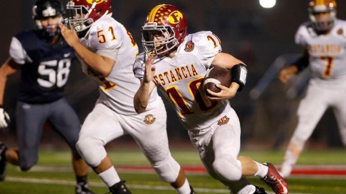
[[311, 22], [303, 23], [295, 42], [308, 49], [311, 79], [321, 84], [346, 81], [346, 21], [337, 20], [328, 35], [317, 35]]

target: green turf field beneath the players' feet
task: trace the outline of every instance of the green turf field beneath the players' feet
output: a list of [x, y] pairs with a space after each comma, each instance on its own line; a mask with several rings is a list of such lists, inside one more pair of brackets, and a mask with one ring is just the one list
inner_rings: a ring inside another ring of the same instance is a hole
[[[69, 169], [71, 164], [69, 152], [41, 152], [38, 169], [29, 172], [20, 172], [17, 167], [8, 165], [7, 181], [0, 182], [0, 194], [73, 194], [74, 174]], [[173, 157], [181, 165], [201, 165], [196, 151], [172, 151]], [[244, 151], [240, 155], [252, 157], [258, 162], [280, 164], [283, 158], [282, 151]], [[138, 151], [110, 152], [115, 165], [149, 165], [142, 153]], [[302, 154], [298, 164], [346, 164], [344, 150], [306, 151]], [[64, 168], [66, 166], [66, 168]], [[48, 167], [48, 170], [40, 167]], [[175, 191], [153, 173], [120, 172], [122, 180], [134, 194], [174, 194]], [[188, 174], [189, 182], [196, 188], [197, 193], [227, 193], [225, 187], [218, 181], [204, 174]], [[265, 186], [257, 177], [250, 178], [253, 184]], [[89, 182], [96, 193], [107, 193], [107, 187], [93, 172], [89, 174]], [[310, 194], [345, 194], [346, 179], [343, 178], [291, 178], [288, 180], [290, 193]]]

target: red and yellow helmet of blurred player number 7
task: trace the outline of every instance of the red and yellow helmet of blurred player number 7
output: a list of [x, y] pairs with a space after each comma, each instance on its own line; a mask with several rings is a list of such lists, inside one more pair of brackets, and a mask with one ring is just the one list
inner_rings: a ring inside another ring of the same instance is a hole
[[[333, 28], [336, 21], [336, 2], [335, 0], [310, 0], [308, 12], [310, 21], [316, 30], [329, 30]], [[315, 15], [321, 12], [329, 13], [329, 19], [317, 19]]]

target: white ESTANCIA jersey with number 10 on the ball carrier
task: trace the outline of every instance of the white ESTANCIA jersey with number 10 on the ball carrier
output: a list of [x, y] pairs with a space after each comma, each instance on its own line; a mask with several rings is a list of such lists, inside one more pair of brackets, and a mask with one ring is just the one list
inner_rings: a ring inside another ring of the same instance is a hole
[[[214, 57], [221, 52], [219, 38], [210, 31], [190, 34], [177, 48], [173, 58], [156, 59], [154, 83], [175, 107], [186, 129], [204, 129], [224, 117], [229, 111], [229, 101], [210, 101], [202, 84]], [[135, 76], [143, 79], [145, 53], [134, 65]]]

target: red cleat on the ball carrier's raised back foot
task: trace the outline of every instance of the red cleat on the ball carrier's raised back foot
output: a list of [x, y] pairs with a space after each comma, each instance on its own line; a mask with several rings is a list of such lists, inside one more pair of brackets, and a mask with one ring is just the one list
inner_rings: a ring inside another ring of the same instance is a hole
[[264, 163], [268, 166], [268, 173], [262, 179], [268, 186], [272, 188], [275, 194], [288, 194], [288, 186], [286, 181], [276, 171], [271, 163]]

